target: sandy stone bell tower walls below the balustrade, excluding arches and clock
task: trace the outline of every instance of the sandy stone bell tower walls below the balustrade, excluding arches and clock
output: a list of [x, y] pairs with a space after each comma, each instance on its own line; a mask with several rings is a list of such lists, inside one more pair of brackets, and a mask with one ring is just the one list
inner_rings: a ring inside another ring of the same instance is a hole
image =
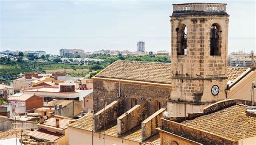
[[[221, 55], [210, 55], [211, 26], [220, 26]], [[177, 28], [187, 28], [187, 54], [178, 55]], [[228, 15], [171, 16], [172, 32], [172, 93], [171, 99], [183, 98], [193, 103], [216, 102], [225, 99], [227, 76]], [[213, 82], [212, 82], [213, 81]], [[211, 94], [211, 86], [218, 85], [218, 96]], [[186, 89], [186, 92], [185, 92]]]

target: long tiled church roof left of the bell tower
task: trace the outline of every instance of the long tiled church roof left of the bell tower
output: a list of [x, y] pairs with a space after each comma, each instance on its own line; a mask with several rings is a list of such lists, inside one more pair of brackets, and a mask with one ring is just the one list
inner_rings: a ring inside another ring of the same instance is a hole
[[95, 77], [171, 84], [171, 63], [116, 61]]

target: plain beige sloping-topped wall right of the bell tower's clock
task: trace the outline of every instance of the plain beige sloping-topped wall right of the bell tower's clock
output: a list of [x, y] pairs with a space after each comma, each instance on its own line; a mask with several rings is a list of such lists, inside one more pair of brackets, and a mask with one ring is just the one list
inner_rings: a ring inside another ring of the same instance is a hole
[[[251, 90], [253, 81], [256, 82], [256, 70], [251, 71], [251, 73], [242, 78], [230, 90], [227, 90], [227, 98], [251, 100]], [[256, 89], [254, 91], [254, 96], [254, 100], [256, 100]]]

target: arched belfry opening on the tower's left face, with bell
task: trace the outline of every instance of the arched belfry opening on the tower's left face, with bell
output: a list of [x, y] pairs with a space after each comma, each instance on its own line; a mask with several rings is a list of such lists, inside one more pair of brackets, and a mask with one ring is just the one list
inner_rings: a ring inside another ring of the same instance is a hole
[[187, 54], [187, 27], [185, 24], [180, 24], [176, 28], [177, 32], [177, 54]]

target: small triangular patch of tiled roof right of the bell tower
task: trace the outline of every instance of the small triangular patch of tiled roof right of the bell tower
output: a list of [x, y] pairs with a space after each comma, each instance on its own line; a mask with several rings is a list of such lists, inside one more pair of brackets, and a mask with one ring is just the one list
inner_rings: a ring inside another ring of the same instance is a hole
[[227, 81], [234, 81], [235, 78], [244, 73], [248, 68], [227, 67]]

